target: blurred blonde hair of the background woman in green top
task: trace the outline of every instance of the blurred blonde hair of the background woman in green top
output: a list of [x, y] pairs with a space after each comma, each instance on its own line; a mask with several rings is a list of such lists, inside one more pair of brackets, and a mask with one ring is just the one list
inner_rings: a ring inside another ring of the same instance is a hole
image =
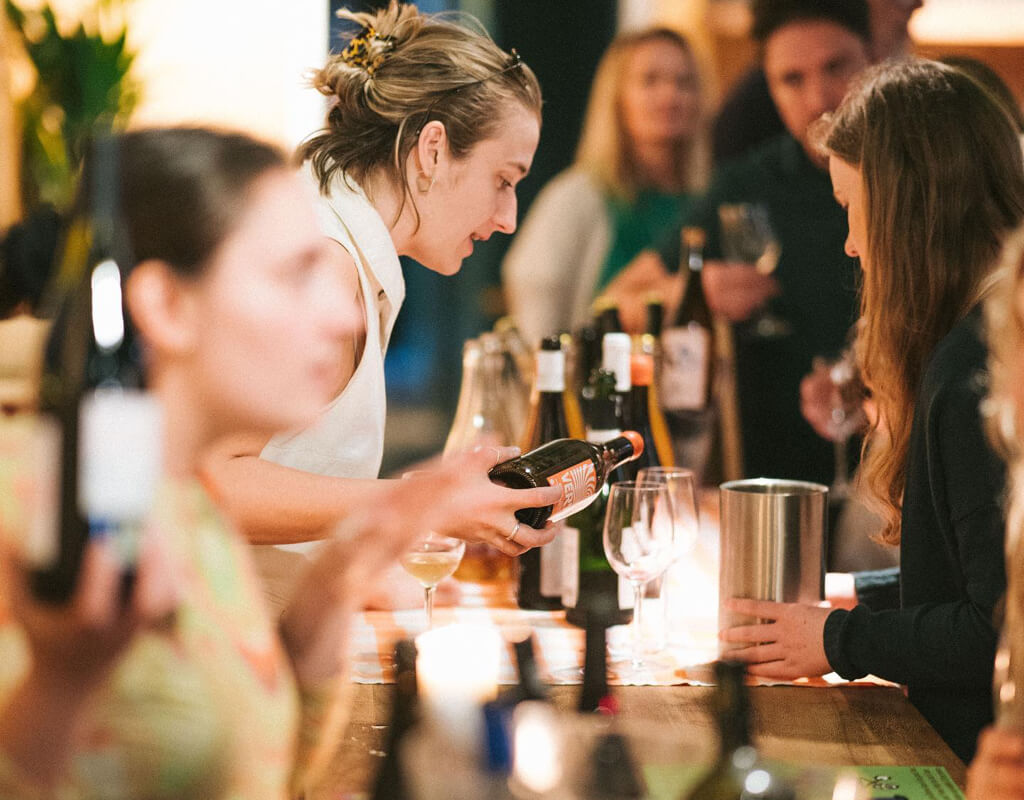
[[[577, 149], [575, 166], [596, 178], [608, 193], [625, 199], [636, 196], [643, 176], [623, 120], [623, 79], [637, 48], [654, 41], [679, 47], [696, 71], [693, 48], [682, 34], [671, 28], [648, 28], [617, 36], [597, 66]], [[686, 191], [700, 190], [708, 179], [709, 164], [706, 126], [700, 124], [691, 137], [680, 140], [674, 177]]]

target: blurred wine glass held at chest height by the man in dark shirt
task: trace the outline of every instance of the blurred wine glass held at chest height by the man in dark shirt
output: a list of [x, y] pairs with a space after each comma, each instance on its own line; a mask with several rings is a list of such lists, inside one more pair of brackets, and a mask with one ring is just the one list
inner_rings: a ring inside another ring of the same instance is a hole
[[[722, 229], [722, 254], [730, 261], [753, 264], [761, 275], [771, 275], [782, 253], [768, 209], [760, 203], [725, 203], [718, 207]], [[770, 309], [763, 308], [751, 322], [764, 339], [787, 336], [793, 327]]]

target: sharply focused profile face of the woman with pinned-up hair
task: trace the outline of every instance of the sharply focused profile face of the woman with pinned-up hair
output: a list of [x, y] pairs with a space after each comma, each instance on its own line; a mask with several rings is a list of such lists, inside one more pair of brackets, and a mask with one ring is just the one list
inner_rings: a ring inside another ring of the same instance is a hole
[[516, 185], [534, 162], [541, 123], [514, 102], [497, 130], [465, 158], [445, 159], [429, 191], [416, 194], [420, 227], [402, 255], [435, 272], [455, 275], [472, 255], [474, 242], [485, 242], [495, 231], [515, 231]]

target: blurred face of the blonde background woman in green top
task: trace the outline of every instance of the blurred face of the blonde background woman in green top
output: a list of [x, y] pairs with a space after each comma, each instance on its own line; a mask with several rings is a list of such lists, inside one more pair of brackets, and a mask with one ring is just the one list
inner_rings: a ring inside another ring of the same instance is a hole
[[689, 52], [668, 39], [637, 45], [620, 85], [623, 126], [634, 145], [665, 144], [696, 132], [700, 87]]

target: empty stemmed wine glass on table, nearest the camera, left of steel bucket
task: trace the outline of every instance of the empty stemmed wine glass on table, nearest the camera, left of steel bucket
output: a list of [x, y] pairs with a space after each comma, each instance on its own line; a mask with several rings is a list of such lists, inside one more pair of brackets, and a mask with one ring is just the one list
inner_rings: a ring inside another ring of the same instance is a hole
[[615, 664], [626, 680], [647, 667], [643, 661], [643, 588], [662, 576], [673, 557], [673, 514], [664, 483], [624, 480], [613, 483], [604, 517], [604, 554], [633, 587], [633, 654]]

